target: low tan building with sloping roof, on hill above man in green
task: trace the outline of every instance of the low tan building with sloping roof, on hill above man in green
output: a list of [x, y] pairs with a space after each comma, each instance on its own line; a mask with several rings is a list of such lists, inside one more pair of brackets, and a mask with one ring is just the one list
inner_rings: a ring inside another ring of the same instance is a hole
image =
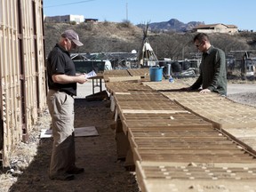
[[222, 23], [217, 23], [210, 25], [198, 25], [196, 26], [196, 28], [193, 28], [193, 32], [235, 34], [238, 32], [238, 28], [235, 25], [225, 25]]

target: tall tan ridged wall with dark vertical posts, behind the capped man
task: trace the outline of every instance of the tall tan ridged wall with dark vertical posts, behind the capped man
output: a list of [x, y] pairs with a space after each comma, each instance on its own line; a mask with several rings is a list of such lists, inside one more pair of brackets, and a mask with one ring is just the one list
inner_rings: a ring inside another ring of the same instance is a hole
[[0, 160], [46, 107], [43, 0], [0, 0]]

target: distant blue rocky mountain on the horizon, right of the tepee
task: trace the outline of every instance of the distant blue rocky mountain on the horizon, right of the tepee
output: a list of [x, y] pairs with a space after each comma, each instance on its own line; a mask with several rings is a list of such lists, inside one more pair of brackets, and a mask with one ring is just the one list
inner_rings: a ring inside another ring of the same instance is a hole
[[[171, 19], [163, 22], [154, 22], [149, 23], [149, 29], [151, 31], [173, 31], [173, 32], [186, 32], [195, 28], [197, 25], [204, 25], [204, 22], [199, 21], [190, 21], [187, 24], [181, 22], [180, 20]], [[137, 25], [140, 28], [143, 28], [145, 25]]]

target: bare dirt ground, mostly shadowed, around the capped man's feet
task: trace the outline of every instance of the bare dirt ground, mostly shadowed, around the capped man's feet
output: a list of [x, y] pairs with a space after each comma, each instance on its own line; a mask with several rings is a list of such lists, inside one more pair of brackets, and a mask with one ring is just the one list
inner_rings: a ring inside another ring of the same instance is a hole
[[[252, 86], [251, 86], [252, 87]], [[228, 98], [256, 107], [256, 90], [232, 92]], [[116, 159], [113, 113], [109, 100], [75, 101], [75, 127], [95, 126], [99, 136], [76, 137], [77, 166], [84, 167], [84, 173], [76, 180], [50, 180], [48, 169], [52, 150], [52, 139], [40, 139], [40, 130], [50, 127], [47, 111], [40, 117], [28, 143], [20, 142], [12, 156], [10, 167], [0, 171], [0, 192], [137, 192], [135, 172], [126, 171], [124, 161]]]

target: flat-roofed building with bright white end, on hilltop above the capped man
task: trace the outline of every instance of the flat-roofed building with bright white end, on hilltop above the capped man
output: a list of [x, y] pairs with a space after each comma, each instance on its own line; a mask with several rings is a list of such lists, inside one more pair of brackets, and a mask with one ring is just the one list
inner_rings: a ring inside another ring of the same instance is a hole
[[44, 22], [84, 22], [84, 15], [45, 16]]

